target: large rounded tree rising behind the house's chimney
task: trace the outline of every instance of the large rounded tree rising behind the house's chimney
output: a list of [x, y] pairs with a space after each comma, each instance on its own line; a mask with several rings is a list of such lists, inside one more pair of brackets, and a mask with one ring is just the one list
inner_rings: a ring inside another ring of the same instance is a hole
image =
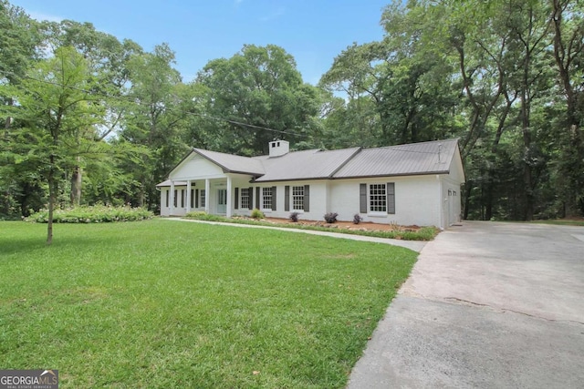
[[266, 153], [274, 138], [312, 143], [319, 129], [318, 90], [302, 81], [282, 47], [246, 45], [229, 59], [209, 62], [197, 82], [206, 87], [208, 116], [223, 119], [206, 127], [220, 134], [224, 151]]

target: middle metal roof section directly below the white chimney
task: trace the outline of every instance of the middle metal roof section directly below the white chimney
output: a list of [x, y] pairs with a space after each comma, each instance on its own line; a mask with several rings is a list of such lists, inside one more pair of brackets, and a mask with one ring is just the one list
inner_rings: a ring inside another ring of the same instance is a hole
[[343, 167], [360, 148], [323, 151], [319, 149], [294, 151], [280, 157], [255, 157], [264, 164], [266, 174], [255, 182], [293, 179], [329, 179]]

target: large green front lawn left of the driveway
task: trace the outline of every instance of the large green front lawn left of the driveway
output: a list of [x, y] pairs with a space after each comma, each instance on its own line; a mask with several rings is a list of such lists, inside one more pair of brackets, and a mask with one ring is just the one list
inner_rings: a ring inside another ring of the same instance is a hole
[[4, 369], [62, 388], [347, 384], [416, 253], [147, 220], [0, 222]]

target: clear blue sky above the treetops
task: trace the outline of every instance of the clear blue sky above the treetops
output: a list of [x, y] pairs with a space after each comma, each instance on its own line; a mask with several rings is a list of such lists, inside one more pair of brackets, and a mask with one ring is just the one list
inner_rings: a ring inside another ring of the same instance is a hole
[[9, 0], [41, 20], [89, 22], [145, 50], [167, 43], [188, 82], [209, 61], [245, 45], [283, 47], [305, 82], [316, 85], [354, 42], [380, 40], [391, 0]]

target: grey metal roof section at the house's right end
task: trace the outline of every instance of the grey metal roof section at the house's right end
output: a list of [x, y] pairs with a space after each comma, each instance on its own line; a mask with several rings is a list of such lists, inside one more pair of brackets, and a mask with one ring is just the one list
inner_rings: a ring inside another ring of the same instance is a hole
[[458, 139], [361, 150], [335, 179], [448, 173]]

